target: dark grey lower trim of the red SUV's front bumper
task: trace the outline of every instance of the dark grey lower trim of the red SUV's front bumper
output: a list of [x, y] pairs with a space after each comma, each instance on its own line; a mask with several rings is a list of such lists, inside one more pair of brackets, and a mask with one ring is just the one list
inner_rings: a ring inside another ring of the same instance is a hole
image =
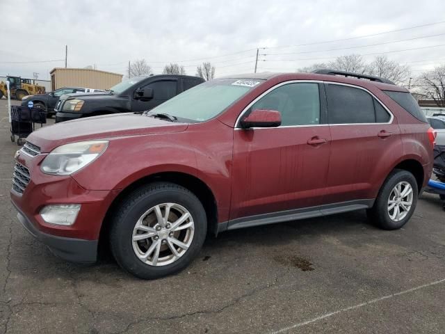
[[33, 236], [38, 239], [42, 244], [48, 246], [54, 255], [60, 257], [63, 260], [71, 262], [92, 263], [97, 260], [97, 240], [84, 240], [75, 238], [58, 237], [44, 233], [38, 228], [35, 228], [33, 223], [26, 218], [26, 216], [17, 209], [17, 218], [22, 223], [23, 227]]

